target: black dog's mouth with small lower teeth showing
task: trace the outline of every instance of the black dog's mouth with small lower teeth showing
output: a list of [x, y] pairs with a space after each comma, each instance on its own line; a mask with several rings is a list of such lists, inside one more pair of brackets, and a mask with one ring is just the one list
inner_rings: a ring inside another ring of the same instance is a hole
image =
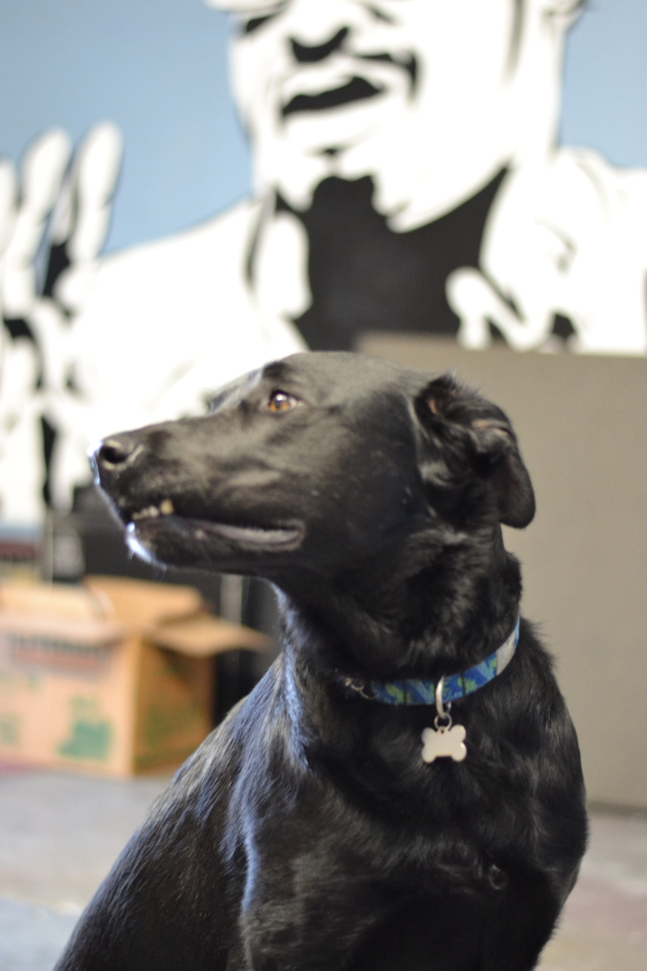
[[303, 527], [296, 523], [223, 521], [207, 519], [198, 511], [180, 512], [168, 497], [132, 511], [122, 510], [121, 519], [129, 545], [137, 552], [153, 554], [158, 548], [160, 552], [166, 548], [169, 541], [194, 554], [294, 549], [304, 534]]

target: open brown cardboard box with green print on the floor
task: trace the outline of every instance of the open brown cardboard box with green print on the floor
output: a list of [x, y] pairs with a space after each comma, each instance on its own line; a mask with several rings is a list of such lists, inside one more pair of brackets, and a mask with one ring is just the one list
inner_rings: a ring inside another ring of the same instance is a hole
[[0, 586], [0, 760], [113, 776], [175, 768], [210, 732], [213, 654], [269, 646], [187, 586]]

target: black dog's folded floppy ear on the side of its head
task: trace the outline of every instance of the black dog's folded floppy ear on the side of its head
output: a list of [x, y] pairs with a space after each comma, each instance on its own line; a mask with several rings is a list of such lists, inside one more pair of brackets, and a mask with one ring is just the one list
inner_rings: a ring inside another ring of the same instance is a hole
[[425, 482], [451, 490], [474, 479], [491, 491], [499, 520], [523, 529], [534, 517], [534, 490], [512, 427], [496, 405], [441, 375], [414, 403], [429, 448], [421, 455]]

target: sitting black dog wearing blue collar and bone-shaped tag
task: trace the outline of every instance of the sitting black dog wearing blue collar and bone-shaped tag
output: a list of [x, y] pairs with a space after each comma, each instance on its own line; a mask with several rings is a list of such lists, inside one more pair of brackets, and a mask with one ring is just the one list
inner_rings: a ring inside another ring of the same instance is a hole
[[[525, 620], [514, 651], [501, 522], [526, 526], [534, 495], [501, 410], [447, 376], [297, 354], [94, 460], [134, 550], [274, 582], [285, 649], [180, 769], [58, 968], [533, 968], [586, 814]], [[453, 757], [425, 761], [437, 743]]]

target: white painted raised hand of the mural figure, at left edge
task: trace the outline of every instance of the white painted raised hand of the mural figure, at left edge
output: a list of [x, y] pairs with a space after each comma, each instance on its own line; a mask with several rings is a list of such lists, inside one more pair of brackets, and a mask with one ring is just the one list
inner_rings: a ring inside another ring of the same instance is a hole
[[[43, 509], [41, 418], [70, 394], [72, 318], [104, 245], [120, 159], [112, 124], [90, 131], [72, 165], [54, 129], [27, 151], [20, 177], [0, 164], [0, 517], [33, 522]], [[42, 281], [39, 279], [42, 254]], [[11, 465], [12, 474], [2, 475]]]

